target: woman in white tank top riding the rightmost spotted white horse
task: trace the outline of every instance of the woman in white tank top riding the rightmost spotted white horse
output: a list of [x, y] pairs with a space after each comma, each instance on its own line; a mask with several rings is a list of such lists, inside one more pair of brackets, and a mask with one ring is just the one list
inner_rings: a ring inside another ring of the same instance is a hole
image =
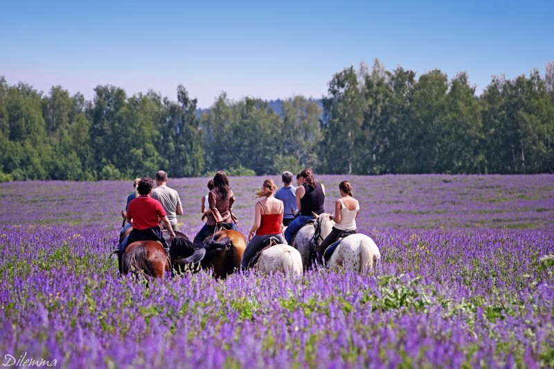
[[334, 217], [330, 215], [330, 219], [334, 220], [334, 226], [331, 233], [317, 248], [317, 260], [323, 264], [323, 253], [325, 250], [333, 244], [337, 237], [344, 231], [350, 231], [356, 233], [356, 218], [358, 217], [359, 202], [352, 197], [352, 186], [350, 182], [342, 181], [339, 184], [339, 192], [341, 198], [334, 202]]

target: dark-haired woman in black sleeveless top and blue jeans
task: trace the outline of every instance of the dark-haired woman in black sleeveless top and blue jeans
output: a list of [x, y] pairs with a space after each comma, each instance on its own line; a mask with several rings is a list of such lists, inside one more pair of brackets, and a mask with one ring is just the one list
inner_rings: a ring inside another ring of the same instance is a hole
[[315, 219], [314, 214], [324, 213], [325, 187], [316, 182], [314, 173], [310, 168], [305, 168], [298, 177], [296, 188], [296, 205], [300, 213], [285, 230], [285, 239], [292, 244], [292, 238], [310, 219]]

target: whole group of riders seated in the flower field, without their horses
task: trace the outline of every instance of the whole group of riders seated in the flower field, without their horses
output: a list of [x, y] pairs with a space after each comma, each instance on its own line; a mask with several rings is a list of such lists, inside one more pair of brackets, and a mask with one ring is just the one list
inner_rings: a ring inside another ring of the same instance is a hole
[[[266, 179], [256, 191], [258, 201], [255, 205], [254, 222], [247, 237], [247, 248], [242, 256], [242, 269], [247, 269], [251, 258], [265, 247], [270, 237], [282, 244], [292, 245], [296, 232], [315, 219], [316, 215], [324, 213], [325, 187], [315, 181], [310, 168], [305, 168], [296, 175], [296, 187], [292, 184], [292, 172], [283, 172], [281, 179], [283, 187], [279, 190], [273, 180]], [[179, 193], [167, 186], [168, 174], [159, 170], [155, 180], [156, 188], [149, 177], [134, 180], [135, 192], [127, 197], [127, 222], [121, 235], [131, 226], [132, 231], [120, 242], [119, 258], [127, 245], [140, 240], [159, 241], [168, 257], [170, 255], [162, 226], [168, 231], [170, 240], [173, 240], [177, 232], [177, 215], [183, 214], [183, 208]], [[204, 240], [218, 227], [238, 230], [238, 218], [233, 213], [235, 195], [225, 172], [217, 172], [208, 181], [208, 190], [208, 195], [202, 197], [202, 220], [206, 219], [206, 223], [194, 238], [194, 244], [198, 248], [202, 248]], [[344, 232], [356, 233], [359, 203], [352, 196], [352, 187], [348, 181], [339, 184], [339, 192], [341, 197], [334, 203], [334, 215], [330, 215], [330, 219], [334, 220], [332, 231], [316, 249], [316, 260], [320, 264], [325, 263], [325, 250], [339, 235]]]

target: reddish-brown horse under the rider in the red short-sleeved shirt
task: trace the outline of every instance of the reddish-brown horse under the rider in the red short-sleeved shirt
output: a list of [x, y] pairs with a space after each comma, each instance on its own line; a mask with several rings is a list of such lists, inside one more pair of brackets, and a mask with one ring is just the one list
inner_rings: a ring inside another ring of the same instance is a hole
[[164, 278], [169, 272], [166, 250], [157, 241], [136, 241], [127, 245], [122, 257], [123, 274], [144, 273], [154, 278]]

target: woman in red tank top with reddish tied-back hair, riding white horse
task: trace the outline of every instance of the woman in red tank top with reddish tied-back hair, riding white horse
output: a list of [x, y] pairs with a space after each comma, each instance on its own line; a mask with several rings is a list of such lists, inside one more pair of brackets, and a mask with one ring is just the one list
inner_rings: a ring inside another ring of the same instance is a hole
[[277, 190], [271, 179], [266, 179], [260, 190], [256, 191], [256, 197], [264, 197], [256, 201], [254, 208], [254, 224], [248, 235], [248, 245], [242, 255], [240, 266], [242, 269], [248, 267], [250, 259], [260, 250], [263, 242], [269, 237], [276, 237], [280, 243], [287, 244], [283, 237], [283, 213], [285, 207], [283, 201], [276, 199], [274, 194]]

